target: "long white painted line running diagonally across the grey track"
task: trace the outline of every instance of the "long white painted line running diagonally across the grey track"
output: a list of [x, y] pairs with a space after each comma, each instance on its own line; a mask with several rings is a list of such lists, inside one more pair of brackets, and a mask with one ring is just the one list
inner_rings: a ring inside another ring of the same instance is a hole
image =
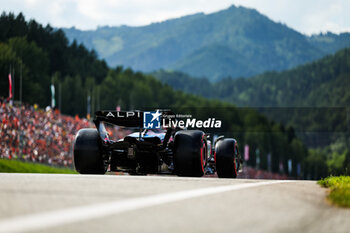
[[194, 197], [285, 182], [289, 181], [266, 181], [208, 187], [18, 216], [0, 220], [0, 233], [43, 230], [49, 227], [101, 218], [112, 214], [119, 214], [126, 211], [186, 200]]

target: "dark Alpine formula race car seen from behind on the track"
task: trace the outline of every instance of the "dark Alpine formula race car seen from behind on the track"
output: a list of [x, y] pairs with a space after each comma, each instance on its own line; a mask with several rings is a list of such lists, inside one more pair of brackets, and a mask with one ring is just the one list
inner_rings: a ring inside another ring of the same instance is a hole
[[[81, 129], [75, 137], [75, 169], [81, 174], [116, 171], [131, 175], [201, 177], [217, 173], [221, 178], [236, 178], [242, 161], [235, 139], [218, 137], [212, 146], [210, 136], [201, 130], [164, 128], [159, 121], [158, 125], [153, 124], [157, 118], [173, 121], [170, 113], [159, 110], [96, 112], [96, 129]], [[147, 125], [145, 120], [149, 115], [152, 119], [148, 119]], [[138, 131], [112, 140], [106, 124]]]

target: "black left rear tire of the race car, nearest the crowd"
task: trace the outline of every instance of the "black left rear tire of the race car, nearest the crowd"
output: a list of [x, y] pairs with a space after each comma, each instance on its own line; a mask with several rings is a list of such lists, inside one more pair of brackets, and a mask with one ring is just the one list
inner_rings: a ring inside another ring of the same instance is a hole
[[101, 139], [96, 129], [81, 129], [74, 140], [74, 166], [80, 174], [105, 174]]

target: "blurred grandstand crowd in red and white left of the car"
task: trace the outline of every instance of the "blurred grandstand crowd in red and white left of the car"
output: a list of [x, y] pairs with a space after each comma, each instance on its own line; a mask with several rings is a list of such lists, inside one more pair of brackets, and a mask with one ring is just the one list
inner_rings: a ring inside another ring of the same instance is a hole
[[32, 105], [11, 105], [0, 99], [0, 158], [73, 167], [76, 132], [92, 124], [78, 116], [45, 111]]

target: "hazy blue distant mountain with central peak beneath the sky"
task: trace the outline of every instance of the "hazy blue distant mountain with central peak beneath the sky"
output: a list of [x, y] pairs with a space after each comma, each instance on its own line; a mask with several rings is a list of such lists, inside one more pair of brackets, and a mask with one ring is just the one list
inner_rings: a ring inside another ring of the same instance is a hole
[[[145, 26], [63, 30], [71, 41], [96, 50], [110, 66], [143, 72], [179, 70], [211, 81], [286, 70], [350, 46], [350, 33], [338, 46], [341, 36], [308, 37], [255, 9], [234, 5]], [[218, 45], [232, 54], [214, 51]]]

